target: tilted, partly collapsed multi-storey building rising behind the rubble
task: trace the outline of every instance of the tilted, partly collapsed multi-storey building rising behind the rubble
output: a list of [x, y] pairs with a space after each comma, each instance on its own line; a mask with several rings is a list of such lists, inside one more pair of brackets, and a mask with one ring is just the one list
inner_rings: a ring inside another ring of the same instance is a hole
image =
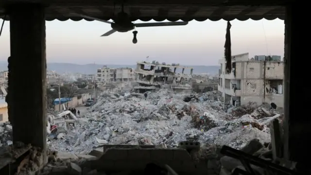
[[[190, 70], [189, 74], [185, 70]], [[179, 66], [179, 64], [167, 65], [166, 63], [138, 62], [135, 90], [139, 93], [158, 88], [171, 88], [174, 91], [191, 90], [191, 78], [193, 68]]]

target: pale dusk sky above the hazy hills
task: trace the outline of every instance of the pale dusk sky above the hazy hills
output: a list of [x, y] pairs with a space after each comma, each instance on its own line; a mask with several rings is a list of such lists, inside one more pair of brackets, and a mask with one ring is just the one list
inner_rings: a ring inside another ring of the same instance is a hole
[[[283, 57], [283, 20], [230, 22], [232, 54]], [[186, 26], [137, 28], [137, 44], [132, 43], [133, 31], [100, 37], [111, 28], [98, 21], [47, 21], [46, 29], [48, 62], [133, 65], [149, 56], [148, 61], [167, 64], [218, 65], [224, 55], [226, 21], [193, 20]], [[6, 21], [0, 36], [0, 61], [10, 56], [9, 31]]]

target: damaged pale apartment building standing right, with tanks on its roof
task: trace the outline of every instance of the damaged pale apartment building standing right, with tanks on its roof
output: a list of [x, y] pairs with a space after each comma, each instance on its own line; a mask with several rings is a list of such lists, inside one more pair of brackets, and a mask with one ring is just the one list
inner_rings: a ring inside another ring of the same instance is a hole
[[218, 90], [225, 102], [235, 106], [266, 102], [283, 107], [284, 63], [280, 56], [260, 55], [249, 59], [248, 53], [233, 55], [229, 73], [224, 58], [219, 64]]

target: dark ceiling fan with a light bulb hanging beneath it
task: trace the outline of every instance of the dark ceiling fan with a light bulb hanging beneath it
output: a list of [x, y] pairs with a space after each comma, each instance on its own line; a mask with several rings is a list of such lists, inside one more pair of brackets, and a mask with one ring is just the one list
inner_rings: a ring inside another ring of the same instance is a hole
[[[121, 12], [118, 13], [117, 18], [114, 19], [114, 22], [106, 21], [106, 20], [100, 19], [100, 18], [89, 17], [86, 15], [80, 15], [80, 16], [83, 18], [102, 21], [102, 22], [110, 24], [112, 29], [110, 31], [106, 32], [104, 35], [101, 35], [101, 36], [109, 36], [115, 32], [128, 32], [128, 31], [135, 29], [136, 27], [180, 26], [180, 25], [187, 25], [188, 24], [188, 22], [184, 22], [184, 21], [182, 21], [182, 22], [152, 22], [152, 23], [136, 23], [136, 24], [134, 24], [130, 20], [128, 14], [124, 12], [123, 4], [121, 7]], [[135, 44], [135, 43], [137, 43], [137, 39], [136, 39], [137, 31], [134, 31], [133, 34], [134, 34], [133, 43]]]

